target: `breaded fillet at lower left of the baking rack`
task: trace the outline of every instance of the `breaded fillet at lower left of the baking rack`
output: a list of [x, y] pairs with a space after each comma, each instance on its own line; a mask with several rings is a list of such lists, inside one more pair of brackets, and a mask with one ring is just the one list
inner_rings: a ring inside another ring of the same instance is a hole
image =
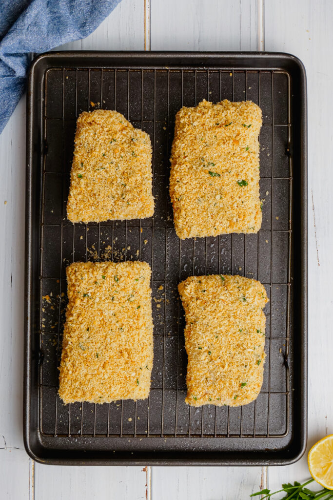
[[64, 403], [146, 399], [153, 365], [146, 262], [74, 262], [60, 363]]

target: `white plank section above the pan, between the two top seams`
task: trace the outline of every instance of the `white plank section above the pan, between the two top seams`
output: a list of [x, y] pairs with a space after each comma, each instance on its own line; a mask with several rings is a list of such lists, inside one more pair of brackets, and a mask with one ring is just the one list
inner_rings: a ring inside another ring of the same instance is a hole
[[255, 0], [151, 0], [152, 50], [257, 50]]

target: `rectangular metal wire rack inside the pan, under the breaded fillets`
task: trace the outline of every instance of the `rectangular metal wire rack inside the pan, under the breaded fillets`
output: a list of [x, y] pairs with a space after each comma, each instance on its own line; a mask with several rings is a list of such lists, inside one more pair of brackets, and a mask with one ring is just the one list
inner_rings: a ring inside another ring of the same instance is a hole
[[[181, 241], [168, 199], [174, 117], [200, 100], [251, 99], [263, 109], [258, 234]], [[116, 109], [153, 145], [155, 214], [150, 219], [72, 224], [65, 203], [75, 120], [83, 110]], [[292, 332], [291, 82], [275, 70], [54, 68], [44, 81], [40, 213], [39, 430], [47, 436], [283, 437], [289, 432]], [[77, 260], [142, 259], [152, 266], [154, 369], [146, 401], [63, 405], [57, 366], [66, 299], [65, 267]], [[184, 402], [186, 355], [177, 283], [191, 274], [260, 279], [266, 308], [265, 379], [247, 406], [191, 408]], [[160, 287], [162, 286], [162, 289]], [[158, 307], [159, 306], [159, 307]]]

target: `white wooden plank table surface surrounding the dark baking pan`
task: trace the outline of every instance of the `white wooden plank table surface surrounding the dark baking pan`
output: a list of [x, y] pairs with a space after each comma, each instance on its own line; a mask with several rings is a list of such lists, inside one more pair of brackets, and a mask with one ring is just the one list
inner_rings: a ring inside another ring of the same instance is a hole
[[[309, 95], [309, 447], [333, 432], [333, 1], [122, 0], [63, 49], [276, 50], [305, 63]], [[0, 135], [0, 498], [217, 500], [309, 476], [285, 467], [65, 467], [22, 442], [25, 98]]]

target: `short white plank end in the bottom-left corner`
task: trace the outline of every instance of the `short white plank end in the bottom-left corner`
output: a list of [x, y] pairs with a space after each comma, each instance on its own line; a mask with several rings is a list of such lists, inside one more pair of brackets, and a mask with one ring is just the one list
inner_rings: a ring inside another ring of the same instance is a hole
[[31, 461], [23, 449], [0, 447], [1, 500], [32, 500], [29, 494]]

